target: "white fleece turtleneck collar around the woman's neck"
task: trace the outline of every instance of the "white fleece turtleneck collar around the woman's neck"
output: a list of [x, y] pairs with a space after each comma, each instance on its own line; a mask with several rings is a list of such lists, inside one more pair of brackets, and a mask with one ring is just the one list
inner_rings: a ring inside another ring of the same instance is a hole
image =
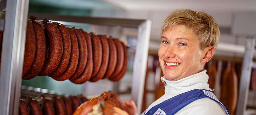
[[184, 92], [193, 89], [206, 89], [209, 88], [208, 82], [209, 76], [206, 74], [206, 70], [199, 72], [197, 74], [185, 77], [177, 81], [166, 80], [165, 77], [161, 77], [161, 80], [166, 82], [165, 84], [165, 94], [182, 94]]

